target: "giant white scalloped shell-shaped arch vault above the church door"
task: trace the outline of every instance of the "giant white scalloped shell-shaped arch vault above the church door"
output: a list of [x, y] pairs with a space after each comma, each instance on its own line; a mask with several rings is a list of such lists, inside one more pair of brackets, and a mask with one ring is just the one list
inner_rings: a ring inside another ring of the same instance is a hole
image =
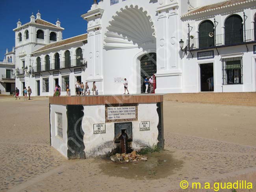
[[143, 47], [156, 43], [154, 22], [143, 7], [125, 6], [109, 21], [104, 48]]

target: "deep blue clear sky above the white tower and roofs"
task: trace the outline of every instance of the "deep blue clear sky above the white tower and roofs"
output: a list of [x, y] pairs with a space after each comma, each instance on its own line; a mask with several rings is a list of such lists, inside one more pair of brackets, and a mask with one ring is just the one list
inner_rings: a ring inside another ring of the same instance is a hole
[[0, 60], [4, 59], [6, 48], [8, 51], [15, 46], [15, 32], [20, 19], [22, 24], [30, 22], [32, 12], [35, 17], [37, 11], [41, 19], [56, 24], [61, 22], [63, 39], [87, 33], [87, 22], [80, 17], [91, 8], [93, 0], [0, 0]]

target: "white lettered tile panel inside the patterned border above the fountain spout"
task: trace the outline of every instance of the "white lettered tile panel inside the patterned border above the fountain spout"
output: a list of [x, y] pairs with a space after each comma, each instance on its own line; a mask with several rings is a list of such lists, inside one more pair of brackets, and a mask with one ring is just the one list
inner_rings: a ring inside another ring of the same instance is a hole
[[135, 119], [136, 106], [108, 107], [108, 120]]

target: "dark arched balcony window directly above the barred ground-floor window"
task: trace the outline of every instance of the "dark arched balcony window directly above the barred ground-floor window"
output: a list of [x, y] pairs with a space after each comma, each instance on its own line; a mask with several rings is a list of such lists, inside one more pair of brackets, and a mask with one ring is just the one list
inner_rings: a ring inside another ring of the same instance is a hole
[[239, 15], [231, 15], [225, 21], [225, 45], [243, 42], [243, 20]]

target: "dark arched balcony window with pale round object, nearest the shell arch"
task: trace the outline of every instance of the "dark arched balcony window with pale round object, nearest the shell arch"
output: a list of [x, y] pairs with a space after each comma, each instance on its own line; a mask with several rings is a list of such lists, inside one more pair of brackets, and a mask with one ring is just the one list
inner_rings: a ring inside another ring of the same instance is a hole
[[210, 20], [202, 22], [198, 29], [199, 48], [208, 48], [214, 46], [214, 25]]

